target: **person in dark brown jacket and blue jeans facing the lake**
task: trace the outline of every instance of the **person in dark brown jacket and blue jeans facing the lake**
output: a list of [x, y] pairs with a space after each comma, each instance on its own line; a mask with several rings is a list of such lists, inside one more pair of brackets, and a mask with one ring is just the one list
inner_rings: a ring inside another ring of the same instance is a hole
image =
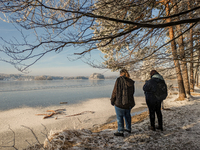
[[[135, 81], [130, 79], [126, 69], [120, 71], [120, 77], [117, 78], [111, 96], [111, 104], [115, 106], [117, 115], [118, 131], [115, 136], [124, 136], [124, 131], [131, 133], [131, 109], [135, 106], [134, 87]], [[126, 129], [124, 129], [124, 119]]]

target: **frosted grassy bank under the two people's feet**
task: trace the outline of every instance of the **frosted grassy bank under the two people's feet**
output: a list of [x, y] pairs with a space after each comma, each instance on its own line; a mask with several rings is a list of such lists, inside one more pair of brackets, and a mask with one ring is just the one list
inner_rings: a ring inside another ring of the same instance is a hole
[[91, 130], [51, 131], [44, 146], [47, 149], [135, 149], [135, 150], [197, 150], [200, 149], [200, 95], [176, 101], [171, 95], [164, 101], [164, 131], [148, 129], [149, 118], [132, 125], [132, 133], [115, 137], [114, 129], [98, 133]]

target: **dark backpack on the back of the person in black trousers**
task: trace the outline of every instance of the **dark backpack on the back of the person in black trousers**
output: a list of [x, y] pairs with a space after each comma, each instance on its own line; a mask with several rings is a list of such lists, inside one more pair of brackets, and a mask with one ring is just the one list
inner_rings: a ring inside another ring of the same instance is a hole
[[164, 99], [166, 99], [168, 92], [167, 92], [167, 85], [165, 81], [157, 82], [157, 88], [154, 95], [159, 101], [163, 101]]

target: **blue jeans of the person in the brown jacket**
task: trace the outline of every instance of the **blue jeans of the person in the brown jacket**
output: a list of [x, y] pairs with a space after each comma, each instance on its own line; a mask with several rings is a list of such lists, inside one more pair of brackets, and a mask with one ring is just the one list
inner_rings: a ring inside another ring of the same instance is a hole
[[122, 109], [115, 106], [115, 112], [117, 115], [118, 132], [124, 132], [124, 119], [126, 129], [131, 131], [131, 109]]

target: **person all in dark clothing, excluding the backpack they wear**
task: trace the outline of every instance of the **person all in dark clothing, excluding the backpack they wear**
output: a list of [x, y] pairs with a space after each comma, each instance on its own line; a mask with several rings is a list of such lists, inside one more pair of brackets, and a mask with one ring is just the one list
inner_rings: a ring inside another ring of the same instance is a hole
[[163, 131], [163, 121], [162, 121], [162, 112], [161, 112], [161, 103], [162, 101], [158, 100], [154, 93], [156, 92], [157, 83], [163, 82], [163, 77], [156, 71], [152, 70], [150, 72], [151, 79], [146, 81], [145, 85], [143, 86], [143, 90], [145, 93], [146, 103], [149, 109], [149, 118], [150, 118], [150, 129], [155, 131], [155, 113], [157, 114], [158, 118], [158, 127]]

